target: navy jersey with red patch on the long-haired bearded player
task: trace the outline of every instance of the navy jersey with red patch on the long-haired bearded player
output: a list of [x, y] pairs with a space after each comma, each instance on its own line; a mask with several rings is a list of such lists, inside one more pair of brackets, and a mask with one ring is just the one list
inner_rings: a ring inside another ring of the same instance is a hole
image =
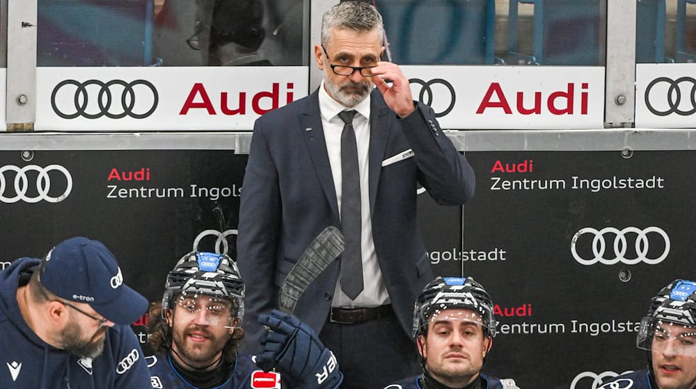
[[[171, 356], [156, 355], [146, 358], [150, 367], [150, 382], [157, 389], [198, 389], [180, 376], [172, 365]], [[280, 374], [264, 372], [251, 356], [237, 356], [232, 375], [215, 389], [280, 389]]]

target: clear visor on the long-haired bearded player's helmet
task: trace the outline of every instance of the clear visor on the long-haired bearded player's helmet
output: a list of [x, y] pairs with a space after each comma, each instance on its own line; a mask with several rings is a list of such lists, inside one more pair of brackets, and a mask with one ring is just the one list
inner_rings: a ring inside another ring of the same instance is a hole
[[174, 299], [173, 306], [183, 308], [177, 312], [187, 315], [196, 324], [225, 328], [236, 327], [239, 320], [235, 321], [235, 318], [242, 309], [236, 300], [190, 292], [181, 292]]

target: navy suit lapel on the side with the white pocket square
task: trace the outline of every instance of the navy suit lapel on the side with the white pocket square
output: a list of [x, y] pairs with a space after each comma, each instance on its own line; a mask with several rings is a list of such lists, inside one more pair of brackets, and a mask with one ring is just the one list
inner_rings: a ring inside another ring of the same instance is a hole
[[[377, 184], [382, 170], [384, 149], [389, 135], [389, 114], [391, 111], [384, 104], [382, 95], [377, 89], [370, 96], [370, 151], [369, 151], [369, 182], [370, 182], [370, 213], [374, 214], [374, 200], [377, 198]], [[393, 114], [392, 114], [393, 115]]]

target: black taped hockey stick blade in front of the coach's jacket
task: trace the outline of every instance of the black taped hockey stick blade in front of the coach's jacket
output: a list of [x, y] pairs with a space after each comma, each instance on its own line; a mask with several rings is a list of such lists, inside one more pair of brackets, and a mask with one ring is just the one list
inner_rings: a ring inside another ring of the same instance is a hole
[[280, 286], [278, 305], [280, 311], [292, 314], [302, 294], [310, 283], [329, 266], [345, 249], [341, 231], [328, 226], [309, 244], [300, 259]]

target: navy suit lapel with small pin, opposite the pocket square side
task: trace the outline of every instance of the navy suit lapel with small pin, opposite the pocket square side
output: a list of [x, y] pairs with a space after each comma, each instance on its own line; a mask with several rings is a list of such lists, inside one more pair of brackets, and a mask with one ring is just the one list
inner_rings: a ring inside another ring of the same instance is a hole
[[331, 174], [331, 163], [329, 163], [329, 153], [326, 151], [326, 140], [324, 139], [324, 127], [322, 126], [322, 116], [319, 113], [319, 92], [315, 90], [310, 95], [310, 99], [305, 104], [305, 110], [300, 115], [300, 129], [302, 137], [307, 147], [308, 154], [314, 165], [315, 172], [322, 184], [326, 200], [329, 201], [335, 220], [340, 220], [338, 214], [338, 201], [336, 200], [336, 190], [333, 186], [333, 174]]

